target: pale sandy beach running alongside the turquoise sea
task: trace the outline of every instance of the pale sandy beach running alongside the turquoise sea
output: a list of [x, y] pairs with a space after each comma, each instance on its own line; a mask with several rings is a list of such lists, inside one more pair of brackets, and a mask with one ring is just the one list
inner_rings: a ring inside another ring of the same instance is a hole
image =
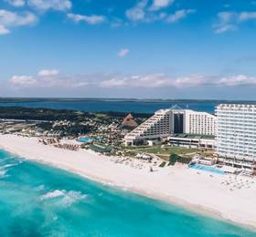
[[0, 135], [0, 148], [195, 211], [218, 215], [256, 228], [256, 179], [198, 172], [184, 166], [135, 169], [90, 150], [70, 151], [45, 146], [37, 139]]

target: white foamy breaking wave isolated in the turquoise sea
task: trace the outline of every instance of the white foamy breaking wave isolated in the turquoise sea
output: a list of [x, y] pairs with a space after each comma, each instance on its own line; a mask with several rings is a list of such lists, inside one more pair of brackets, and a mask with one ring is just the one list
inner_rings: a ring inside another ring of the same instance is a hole
[[55, 190], [48, 191], [41, 196], [41, 201], [51, 200], [59, 198], [59, 203], [64, 206], [70, 206], [72, 203], [81, 201], [87, 198], [86, 194], [82, 194], [80, 191], [65, 191], [65, 190]]

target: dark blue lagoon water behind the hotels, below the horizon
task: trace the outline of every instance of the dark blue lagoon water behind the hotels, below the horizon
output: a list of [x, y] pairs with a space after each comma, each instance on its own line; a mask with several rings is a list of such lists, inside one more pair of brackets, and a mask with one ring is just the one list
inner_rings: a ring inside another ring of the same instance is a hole
[[199, 111], [214, 113], [218, 101], [181, 101], [181, 102], [145, 102], [145, 101], [112, 101], [112, 100], [70, 100], [70, 101], [42, 101], [42, 102], [11, 102], [1, 103], [0, 106], [18, 106], [28, 108], [67, 108], [88, 112], [137, 112], [154, 113], [160, 108], [171, 108], [178, 105], [181, 108], [191, 108]]

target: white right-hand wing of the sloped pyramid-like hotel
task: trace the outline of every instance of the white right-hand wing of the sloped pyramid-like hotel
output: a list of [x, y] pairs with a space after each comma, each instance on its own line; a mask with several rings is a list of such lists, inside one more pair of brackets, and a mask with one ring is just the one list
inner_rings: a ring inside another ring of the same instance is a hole
[[198, 112], [190, 109], [185, 110], [184, 133], [215, 135], [216, 116], [206, 112]]

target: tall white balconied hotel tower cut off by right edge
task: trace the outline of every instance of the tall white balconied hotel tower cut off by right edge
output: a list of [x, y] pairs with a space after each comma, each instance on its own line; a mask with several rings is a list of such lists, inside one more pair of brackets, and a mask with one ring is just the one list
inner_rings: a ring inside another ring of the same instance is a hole
[[256, 105], [221, 104], [216, 108], [219, 161], [252, 169], [256, 163]]

